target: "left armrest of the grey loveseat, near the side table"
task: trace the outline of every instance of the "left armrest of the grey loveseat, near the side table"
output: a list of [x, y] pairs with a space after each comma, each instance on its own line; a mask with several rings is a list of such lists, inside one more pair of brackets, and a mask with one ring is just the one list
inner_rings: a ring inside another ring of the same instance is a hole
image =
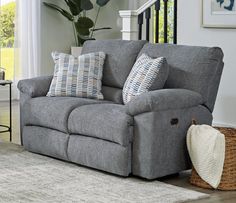
[[21, 93], [30, 97], [46, 96], [50, 88], [52, 76], [42, 76], [32, 79], [20, 80], [17, 88]]

